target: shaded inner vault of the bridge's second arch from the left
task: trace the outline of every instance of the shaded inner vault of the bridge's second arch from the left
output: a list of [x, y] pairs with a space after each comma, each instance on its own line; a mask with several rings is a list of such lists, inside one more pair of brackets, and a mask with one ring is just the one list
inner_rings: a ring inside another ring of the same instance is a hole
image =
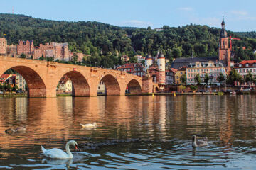
[[[73, 86], [72, 96], [73, 97], [90, 96], [90, 86], [87, 82], [87, 79], [80, 72], [70, 71], [70, 72], [65, 73], [63, 76], [67, 76], [72, 81], [72, 86]], [[59, 80], [60, 79], [58, 79], [58, 81]], [[56, 87], [57, 87], [57, 84], [56, 84]]]

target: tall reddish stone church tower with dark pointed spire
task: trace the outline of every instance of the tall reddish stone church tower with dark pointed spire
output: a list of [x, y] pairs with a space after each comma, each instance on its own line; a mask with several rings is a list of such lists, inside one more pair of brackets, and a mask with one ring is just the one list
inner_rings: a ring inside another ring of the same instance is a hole
[[219, 42], [219, 61], [223, 61], [225, 67], [228, 67], [230, 71], [230, 48], [228, 47], [228, 34], [225, 30], [225, 21], [223, 16], [223, 21], [221, 23], [221, 32], [220, 32], [220, 42]]

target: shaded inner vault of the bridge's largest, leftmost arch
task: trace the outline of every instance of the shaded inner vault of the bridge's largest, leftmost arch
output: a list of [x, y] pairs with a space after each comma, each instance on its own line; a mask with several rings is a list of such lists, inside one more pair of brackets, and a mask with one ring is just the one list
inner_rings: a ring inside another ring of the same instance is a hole
[[22, 65], [14, 66], [9, 69], [14, 69], [26, 80], [28, 98], [46, 98], [46, 84], [34, 69]]

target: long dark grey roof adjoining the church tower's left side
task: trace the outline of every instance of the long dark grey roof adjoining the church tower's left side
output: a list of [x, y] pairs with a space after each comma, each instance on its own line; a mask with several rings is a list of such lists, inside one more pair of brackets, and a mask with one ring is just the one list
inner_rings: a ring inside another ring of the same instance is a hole
[[188, 66], [191, 62], [208, 62], [216, 60], [218, 60], [218, 57], [176, 58], [176, 60], [171, 63], [171, 68], [178, 69], [183, 66]]

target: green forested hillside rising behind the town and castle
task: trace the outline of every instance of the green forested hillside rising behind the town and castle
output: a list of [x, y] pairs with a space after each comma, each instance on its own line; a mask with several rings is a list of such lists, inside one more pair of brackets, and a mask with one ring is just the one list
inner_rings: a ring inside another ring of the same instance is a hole
[[[226, 21], [228, 24], [228, 21]], [[161, 48], [166, 58], [217, 56], [220, 28], [188, 25], [178, 28], [163, 26], [156, 31], [149, 28], [121, 28], [110, 24], [80, 21], [49, 21], [23, 15], [0, 14], [0, 37], [6, 34], [8, 44], [18, 40], [33, 40], [35, 45], [45, 42], [68, 42], [73, 52], [83, 52], [86, 59], [113, 67], [120, 64], [120, 55], [153, 55]], [[241, 40], [233, 40], [235, 61], [256, 59], [255, 32], [228, 32]], [[245, 50], [242, 47], [246, 47]], [[134, 62], [134, 58], [132, 62]]]

